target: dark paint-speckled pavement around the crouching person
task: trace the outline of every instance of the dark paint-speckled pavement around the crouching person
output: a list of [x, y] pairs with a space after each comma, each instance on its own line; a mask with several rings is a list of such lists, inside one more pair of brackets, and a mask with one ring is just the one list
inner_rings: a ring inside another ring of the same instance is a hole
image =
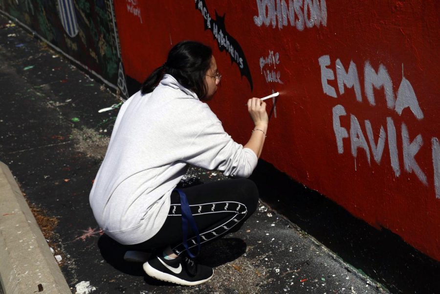
[[[125, 249], [102, 234], [88, 205], [117, 114], [98, 110], [120, 100], [7, 23], [0, 16], [0, 160], [27, 201], [58, 221], [46, 233], [73, 293], [387, 292], [265, 204], [242, 230], [203, 248], [199, 260], [215, 267], [208, 283], [162, 283], [145, 276], [141, 264], [124, 262]], [[193, 168], [182, 185], [219, 179]], [[7, 274], [1, 266], [0, 274]]]

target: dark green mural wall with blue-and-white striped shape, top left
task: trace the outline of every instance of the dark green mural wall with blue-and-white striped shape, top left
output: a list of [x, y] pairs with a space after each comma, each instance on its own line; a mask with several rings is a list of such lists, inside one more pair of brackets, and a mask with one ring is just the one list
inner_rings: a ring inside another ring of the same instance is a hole
[[0, 0], [6, 14], [127, 97], [111, 0]]

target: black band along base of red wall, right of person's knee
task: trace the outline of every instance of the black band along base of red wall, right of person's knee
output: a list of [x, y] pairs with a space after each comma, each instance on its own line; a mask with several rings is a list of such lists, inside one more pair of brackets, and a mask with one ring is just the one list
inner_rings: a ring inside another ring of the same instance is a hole
[[353, 217], [264, 160], [251, 179], [264, 202], [392, 293], [440, 293], [440, 263], [400, 236]]

